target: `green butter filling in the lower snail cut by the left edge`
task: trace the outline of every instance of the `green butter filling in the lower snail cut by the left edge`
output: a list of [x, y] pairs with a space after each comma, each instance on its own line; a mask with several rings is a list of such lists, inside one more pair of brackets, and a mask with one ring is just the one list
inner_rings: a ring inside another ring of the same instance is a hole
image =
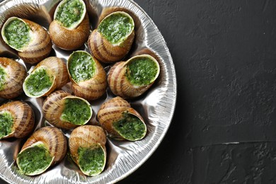
[[13, 116], [8, 111], [0, 112], [0, 139], [11, 134]]

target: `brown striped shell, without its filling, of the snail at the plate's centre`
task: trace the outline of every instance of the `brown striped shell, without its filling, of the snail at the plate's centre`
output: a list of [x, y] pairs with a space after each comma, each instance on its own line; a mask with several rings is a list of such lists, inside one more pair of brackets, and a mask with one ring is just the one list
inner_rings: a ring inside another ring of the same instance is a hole
[[[77, 51], [82, 52], [82, 51]], [[92, 56], [91, 56], [92, 57]], [[71, 74], [69, 72], [69, 64], [70, 64], [70, 57], [67, 62], [67, 69], [69, 73], [69, 79], [72, 82], [72, 91], [76, 96], [79, 96], [81, 98], [84, 98], [86, 100], [96, 100], [103, 96], [105, 93], [105, 90], [108, 86], [108, 81], [106, 77], [105, 70], [103, 69], [103, 66], [98, 62], [97, 59], [94, 57], [93, 61], [96, 64], [96, 74], [94, 74], [93, 78], [88, 79], [86, 81], [79, 81], [77, 83], [74, 81], [74, 79], [71, 78]]]

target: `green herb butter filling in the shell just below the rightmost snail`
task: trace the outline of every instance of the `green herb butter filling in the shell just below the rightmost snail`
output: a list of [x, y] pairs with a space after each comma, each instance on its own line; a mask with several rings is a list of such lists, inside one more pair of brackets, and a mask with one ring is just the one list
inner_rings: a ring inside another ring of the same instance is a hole
[[127, 140], [142, 139], [146, 134], [146, 125], [135, 115], [123, 113], [122, 118], [113, 122], [113, 128]]

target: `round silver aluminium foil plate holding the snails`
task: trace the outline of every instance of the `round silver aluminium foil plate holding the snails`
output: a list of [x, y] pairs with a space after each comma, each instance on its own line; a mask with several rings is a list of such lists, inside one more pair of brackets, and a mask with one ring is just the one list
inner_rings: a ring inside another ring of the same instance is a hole
[[[76, 164], [71, 161], [69, 154], [63, 161], [50, 167], [39, 176], [25, 176], [21, 174], [14, 161], [25, 139], [5, 139], [0, 141], [0, 177], [8, 183], [115, 183], [135, 171], [149, 159], [165, 136], [171, 123], [176, 106], [176, 72], [171, 54], [166, 42], [158, 28], [138, 4], [131, 0], [87, 0], [86, 9], [91, 22], [91, 30], [96, 28], [98, 21], [106, 13], [115, 10], [124, 10], [131, 14], [135, 22], [136, 37], [134, 45], [127, 58], [137, 52], [154, 52], [159, 57], [161, 73], [159, 79], [143, 96], [129, 100], [132, 108], [136, 109], [146, 121], [147, 134], [144, 139], [137, 142], [115, 141], [108, 139], [108, 159], [103, 173], [98, 176], [85, 176]], [[44, 28], [49, 28], [54, 10], [59, 1], [56, 0], [6, 0], [0, 3], [0, 28], [7, 18], [18, 16], [39, 23]], [[85, 44], [80, 50], [86, 50]], [[60, 50], [53, 46], [51, 56], [61, 57], [66, 61], [71, 52]], [[16, 52], [11, 50], [0, 38], [0, 56], [12, 57], [25, 66], [28, 72], [33, 69], [30, 64], [25, 64], [18, 58]], [[126, 58], [126, 59], [127, 59]], [[104, 66], [106, 71], [110, 66]], [[63, 88], [70, 92], [70, 84]], [[91, 101], [93, 117], [91, 124], [97, 125], [96, 114], [100, 105], [114, 95], [108, 89], [106, 95], [99, 100]], [[43, 98], [28, 98], [22, 94], [13, 100], [23, 100], [33, 107], [35, 112], [36, 128], [50, 125], [42, 117]], [[0, 105], [7, 100], [0, 98]], [[69, 137], [71, 131], [62, 130]]]

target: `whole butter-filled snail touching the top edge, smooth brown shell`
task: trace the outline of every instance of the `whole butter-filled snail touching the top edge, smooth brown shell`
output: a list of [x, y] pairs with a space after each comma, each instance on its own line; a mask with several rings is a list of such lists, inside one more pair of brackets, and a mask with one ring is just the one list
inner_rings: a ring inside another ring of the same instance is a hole
[[64, 50], [76, 50], [89, 36], [89, 19], [82, 0], [63, 0], [54, 11], [49, 33], [52, 42]]

